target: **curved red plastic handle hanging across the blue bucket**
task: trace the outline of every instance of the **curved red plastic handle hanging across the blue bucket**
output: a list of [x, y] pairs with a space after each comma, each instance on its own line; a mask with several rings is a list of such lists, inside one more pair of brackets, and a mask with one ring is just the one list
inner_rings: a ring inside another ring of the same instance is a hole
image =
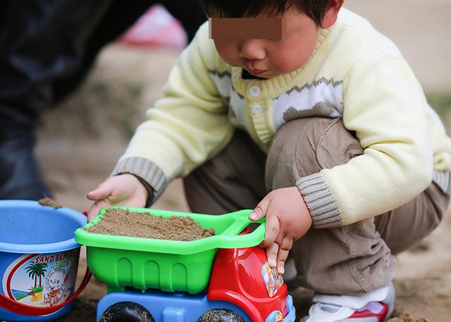
[[61, 304], [55, 305], [55, 306], [47, 306], [47, 307], [38, 307], [38, 306], [32, 306], [27, 304], [21, 304], [19, 302], [16, 302], [13, 299], [10, 299], [9, 297], [6, 297], [3, 294], [0, 294], [0, 307], [2, 309], [6, 309], [7, 311], [16, 313], [16, 314], [22, 314], [27, 316], [43, 316], [47, 314], [52, 314], [58, 311], [59, 309], [63, 308], [63, 306], [66, 306], [69, 302], [73, 301], [75, 297], [78, 297], [80, 293], [85, 290], [85, 287], [87, 283], [89, 282], [89, 279], [91, 278], [92, 273], [89, 271], [89, 268], [86, 268], [85, 277], [82, 280], [82, 283], [78, 287], [77, 292], [75, 292], [71, 297], [66, 299]]

